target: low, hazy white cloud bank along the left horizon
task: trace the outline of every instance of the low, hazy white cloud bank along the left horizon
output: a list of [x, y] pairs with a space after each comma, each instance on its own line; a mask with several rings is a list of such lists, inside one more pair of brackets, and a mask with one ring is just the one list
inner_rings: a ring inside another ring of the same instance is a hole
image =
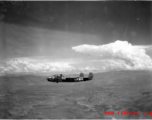
[[[74, 64], [75, 63], [75, 64]], [[78, 65], [80, 64], [80, 65]], [[81, 61], [74, 62], [71, 59], [49, 59], [48, 57], [40, 58], [12, 58], [5, 61], [0, 66], [0, 75], [18, 74], [18, 73], [79, 73], [92, 72], [97, 69], [89, 64], [83, 65]]]

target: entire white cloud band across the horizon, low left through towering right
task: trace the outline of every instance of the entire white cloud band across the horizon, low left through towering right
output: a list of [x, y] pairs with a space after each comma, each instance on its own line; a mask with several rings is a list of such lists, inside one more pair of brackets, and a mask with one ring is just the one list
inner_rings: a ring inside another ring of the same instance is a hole
[[[117, 40], [106, 45], [79, 45], [76, 52], [91, 55], [88, 59], [55, 59], [44, 57], [12, 58], [0, 66], [0, 75], [8, 73], [79, 73], [109, 70], [152, 70], [147, 46], [134, 46]], [[93, 58], [93, 59], [92, 59]]]

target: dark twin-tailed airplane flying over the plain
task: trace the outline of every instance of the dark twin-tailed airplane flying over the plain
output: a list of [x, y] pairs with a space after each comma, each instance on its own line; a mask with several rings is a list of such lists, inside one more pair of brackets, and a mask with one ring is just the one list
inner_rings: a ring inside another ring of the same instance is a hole
[[67, 77], [65, 78], [62, 74], [60, 75], [53, 75], [48, 77], [47, 80], [49, 82], [82, 82], [82, 81], [89, 81], [93, 79], [93, 73], [90, 72], [88, 77], [84, 77], [84, 73], [80, 73], [79, 77]]

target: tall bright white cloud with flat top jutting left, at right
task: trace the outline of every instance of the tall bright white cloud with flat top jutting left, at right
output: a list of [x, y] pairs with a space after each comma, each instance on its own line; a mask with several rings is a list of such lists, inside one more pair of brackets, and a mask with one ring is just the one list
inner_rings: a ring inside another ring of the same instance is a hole
[[[106, 60], [106, 68], [152, 70], [152, 59], [146, 54], [146, 46], [133, 46], [127, 41], [117, 40], [105, 45], [79, 45], [72, 47], [76, 52], [98, 56]], [[105, 68], [105, 69], [106, 69]]]

